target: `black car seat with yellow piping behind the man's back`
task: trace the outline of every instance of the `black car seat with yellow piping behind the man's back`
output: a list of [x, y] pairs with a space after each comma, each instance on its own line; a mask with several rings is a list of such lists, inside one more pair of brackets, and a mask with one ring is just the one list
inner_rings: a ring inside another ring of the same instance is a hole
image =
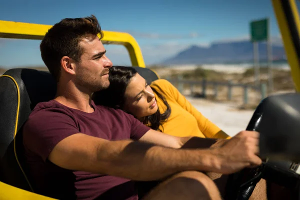
[[14, 68], [0, 76], [0, 181], [31, 190], [19, 167], [24, 165], [22, 134], [17, 133], [34, 106], [55, 92], [56, 82], [46, 71]]

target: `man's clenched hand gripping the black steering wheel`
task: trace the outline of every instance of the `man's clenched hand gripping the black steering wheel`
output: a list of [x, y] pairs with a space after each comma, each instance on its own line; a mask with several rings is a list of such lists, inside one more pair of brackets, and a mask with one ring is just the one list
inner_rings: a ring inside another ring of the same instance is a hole
[[261, 164], [259, 153], [259, 133], [241, 131], [229, 140], [217, 141], [211, 146], [216, 156], [214, 172], [234, 173], [244, 167], [255, 167]]

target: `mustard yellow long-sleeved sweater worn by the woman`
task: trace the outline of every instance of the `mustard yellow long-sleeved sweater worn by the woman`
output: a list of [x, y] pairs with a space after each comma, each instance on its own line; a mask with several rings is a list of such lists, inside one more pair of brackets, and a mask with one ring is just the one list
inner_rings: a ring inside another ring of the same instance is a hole
[[[171, 107], [169, 118], [162, 124], [162, 127], [159, 127], [164, 133], [174, 136], [229, 138], [229, 135], [192, 106], [169, 81], [158, 79], [150, 86], [162, 94]], [[163, 113], [166, 106], [156, 94], [155, 98], [160, 113]]]

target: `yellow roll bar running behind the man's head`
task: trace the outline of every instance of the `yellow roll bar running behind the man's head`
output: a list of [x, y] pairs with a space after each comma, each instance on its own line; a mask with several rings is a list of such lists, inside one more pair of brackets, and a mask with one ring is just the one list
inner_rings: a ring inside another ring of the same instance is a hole
[[[0, 37], [41, 40], [51, 25], [0, 20]], [[132, 35], [104, 30], [103, 44], [120, 44], [128, 50], [132, 66], [145, 67], [141, 50]]]

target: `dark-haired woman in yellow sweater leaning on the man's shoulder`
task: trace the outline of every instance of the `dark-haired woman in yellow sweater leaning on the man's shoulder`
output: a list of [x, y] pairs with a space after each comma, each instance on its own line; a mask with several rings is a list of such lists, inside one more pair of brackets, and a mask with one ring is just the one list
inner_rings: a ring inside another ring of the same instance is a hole
[[113, 66], [110, 85], [93, 94], [95, 104], [123, 109], [152, 129], [174, 136], [229, 138], [167, 80], [150, 85], [134, 67]]

